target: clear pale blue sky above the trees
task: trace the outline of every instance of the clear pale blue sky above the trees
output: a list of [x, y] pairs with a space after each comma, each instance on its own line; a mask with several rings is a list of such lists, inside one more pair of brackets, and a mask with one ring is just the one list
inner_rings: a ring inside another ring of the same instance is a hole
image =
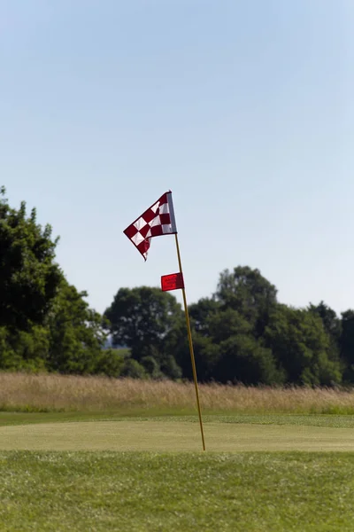
[[[189, 302], [250, 265], [354, 308], [352, 0], [0, 0], [0, 184], [103, 311], [177, 271], [123, 234], [173, 191]], [[181, 294], [175, 293], [181, 301]]]

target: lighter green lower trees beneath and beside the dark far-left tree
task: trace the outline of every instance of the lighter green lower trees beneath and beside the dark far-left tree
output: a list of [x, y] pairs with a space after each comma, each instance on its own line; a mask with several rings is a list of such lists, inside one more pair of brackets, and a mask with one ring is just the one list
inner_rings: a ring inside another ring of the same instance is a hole
[[43, 325], [0, 327], [0, 368], [119, 376], [124, 360], [103, 350], [103, 318], [85, 295], [63, 278]]

